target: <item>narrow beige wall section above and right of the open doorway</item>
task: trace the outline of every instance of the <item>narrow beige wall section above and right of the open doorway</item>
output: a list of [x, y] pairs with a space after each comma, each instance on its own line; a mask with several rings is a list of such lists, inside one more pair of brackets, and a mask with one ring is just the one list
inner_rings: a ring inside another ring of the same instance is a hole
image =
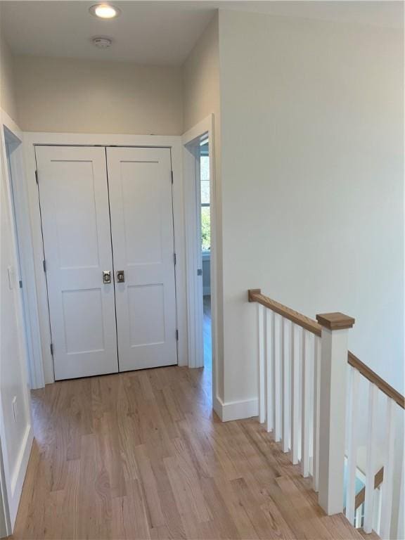
[[[213, 160], [216, 182], [216, 204], [211, 201], [211, 213], [217, 222], [216, 276], [211, 276], [211, 282], [217, 285], [217, 357], [214, 360], [216, 368], [216, 385], [214, 390], [220, 401], [224, 399], [224, 352], [222, 334], [222, 235], [221, 235], [221, 110], [219, 88], [219, 27], [218, 16], [215, 15], [210, 25], [198, 40], [182, 68], [184, 124], [183, 131], [191, 129], [201, 120], [214, 114], [214, 153]], [[211, 148], [211, 147], [210, 147]], [[213, 352], [215, 354], [215, 352]]]

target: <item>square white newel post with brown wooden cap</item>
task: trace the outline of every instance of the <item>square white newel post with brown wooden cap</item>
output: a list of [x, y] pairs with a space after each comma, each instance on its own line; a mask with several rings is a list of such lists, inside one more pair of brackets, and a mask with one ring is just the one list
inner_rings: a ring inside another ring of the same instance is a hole
[[326, 313], [316, 320], [322, 326], [318, 500], [333, 515], [343, 511], [347, 335], [354, 319]]

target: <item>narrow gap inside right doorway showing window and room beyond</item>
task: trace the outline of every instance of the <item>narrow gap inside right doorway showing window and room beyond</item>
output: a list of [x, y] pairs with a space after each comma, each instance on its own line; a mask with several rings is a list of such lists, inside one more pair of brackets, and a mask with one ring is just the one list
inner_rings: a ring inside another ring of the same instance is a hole
[[200, 140], [200, 245], [203, 278], [203, 347], [204, 368], [212, 371], [211, 331], [211, 207], [210, 207], [210, 143]]

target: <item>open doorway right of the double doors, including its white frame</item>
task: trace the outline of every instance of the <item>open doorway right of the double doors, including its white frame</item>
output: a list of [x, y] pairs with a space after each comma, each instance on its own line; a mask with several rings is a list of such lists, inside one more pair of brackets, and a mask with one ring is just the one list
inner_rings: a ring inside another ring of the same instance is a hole
[[217, 211], [214, 115], [182, 136], [186, 221], [188, 367], [201, 372], [212, 407], [217, 398]]

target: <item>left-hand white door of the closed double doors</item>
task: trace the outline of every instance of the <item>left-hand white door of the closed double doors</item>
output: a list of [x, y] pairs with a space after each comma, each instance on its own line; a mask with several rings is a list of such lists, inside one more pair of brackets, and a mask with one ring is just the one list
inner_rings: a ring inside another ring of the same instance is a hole
[[116, 372], [105, 149], [39, 146], [36, 155], [55, 378]]

